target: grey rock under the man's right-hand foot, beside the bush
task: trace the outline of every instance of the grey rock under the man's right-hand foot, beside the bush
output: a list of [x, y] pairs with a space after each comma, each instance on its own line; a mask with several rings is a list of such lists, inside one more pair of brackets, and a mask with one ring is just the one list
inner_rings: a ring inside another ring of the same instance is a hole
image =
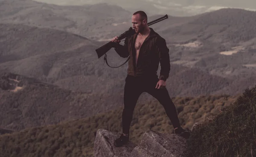
[[186, 139], [176, 134], [146, 131], [131, 157], [184, 157]]

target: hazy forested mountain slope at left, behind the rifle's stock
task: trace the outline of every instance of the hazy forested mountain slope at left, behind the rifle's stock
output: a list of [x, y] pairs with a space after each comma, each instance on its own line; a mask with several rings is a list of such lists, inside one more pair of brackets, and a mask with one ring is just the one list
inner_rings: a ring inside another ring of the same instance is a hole
[[103, 60], [97, 58], [96, 42], [55, 29], [20, 24], [1, 24], [0, 27], [0, 36], [6, 37], [0, 44], [0, 69], [70, 90], [97, 93], [104, 101], [111, 99], [109, 90], [121, 89], [126, 70], [118, 69], [118, 77], [111, 73]]

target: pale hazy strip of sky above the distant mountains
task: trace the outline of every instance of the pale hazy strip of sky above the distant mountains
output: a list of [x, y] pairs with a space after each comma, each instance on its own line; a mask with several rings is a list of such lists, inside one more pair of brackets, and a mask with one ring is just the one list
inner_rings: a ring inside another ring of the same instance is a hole
[[36, 0], [58, 5], [84, 5], [108, 3], [134, 12], [143, 10], [150, 15], [168, 14], [173, 16], [195, 15], [224, 7], [256, 11], [256, 0]]

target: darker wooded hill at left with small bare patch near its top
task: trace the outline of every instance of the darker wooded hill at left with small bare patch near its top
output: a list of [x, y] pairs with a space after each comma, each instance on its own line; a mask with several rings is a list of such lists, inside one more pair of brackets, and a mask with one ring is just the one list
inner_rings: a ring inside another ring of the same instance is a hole
[[91, 116], [95, 93], [64, 90], [12, 73], [0, 76], [0, 128], [21, 130], [32, 126]]

